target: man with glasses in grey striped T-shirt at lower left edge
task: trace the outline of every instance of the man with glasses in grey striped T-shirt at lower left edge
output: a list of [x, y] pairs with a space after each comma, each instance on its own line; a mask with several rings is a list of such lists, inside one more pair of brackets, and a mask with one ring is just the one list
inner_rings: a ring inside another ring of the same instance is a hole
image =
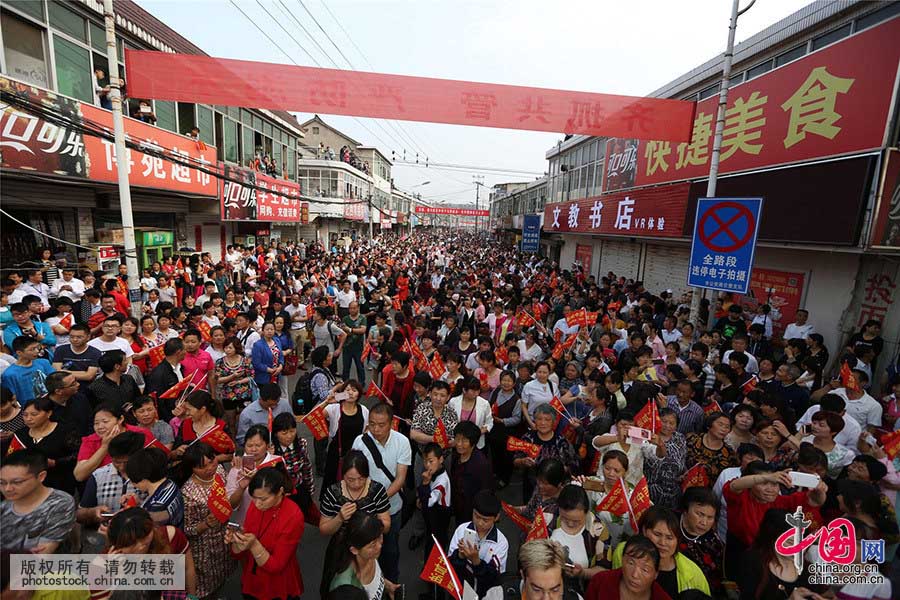
[[36, 448], [13, 452], [0, 468], [0, 547], [52, 554], [75, 526], [75, 499], [44, 485], [47, 458]]

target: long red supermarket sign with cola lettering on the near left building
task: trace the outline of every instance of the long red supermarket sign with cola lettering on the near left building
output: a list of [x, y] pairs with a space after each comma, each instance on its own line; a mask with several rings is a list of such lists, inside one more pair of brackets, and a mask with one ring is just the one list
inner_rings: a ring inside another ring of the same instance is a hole
[[[61, 114], [78, 123], [92, 122], [112, 133], [112, 113], [47, 90], [0, 77], [0, 90]], [[142, 147], [177, 154], [216, 166], [216, 149], [192, 139], [125, 118], [125, 135]], [[7, 102], [0, 103], [0, 166], [54, 175], [67, 175], [116, 183], [118, 168], [115, 143], [50, 123]], [[129, 180], [146, 187], [186, 194], [215, 196], [216, 178], [191, 167], [127, 150]]]

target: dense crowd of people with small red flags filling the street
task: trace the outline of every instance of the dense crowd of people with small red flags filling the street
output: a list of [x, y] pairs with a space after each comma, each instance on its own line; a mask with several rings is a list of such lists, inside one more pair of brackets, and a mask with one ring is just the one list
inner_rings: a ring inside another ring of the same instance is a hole
[[[459, 233], [170, 257], [139, 318], [124, 265], [43, 266], [0, 293], [4, 563], [180, 553], [181, 598], [240, 570], [248, 599], [397, 599], [408, 528], [482, 598], [892, 597], [877, 322], [831, 349], [804, 310], [781, 334], [723, 297], [692, 323], [687, 296]], [[850, 523], [884, 577], [820, 585], [830, 547], [776, 552], [797, 507], [807, 535]]]

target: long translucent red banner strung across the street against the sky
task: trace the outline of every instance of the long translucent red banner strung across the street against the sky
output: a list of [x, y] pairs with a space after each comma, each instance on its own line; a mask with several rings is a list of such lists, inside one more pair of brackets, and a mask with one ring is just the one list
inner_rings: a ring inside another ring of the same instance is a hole
[[269, 110], [672, 142], [690, 141], [694, 115], [694, 103], [685, 100], [145, 50], [126, 50], [125, 67], [128, 92], [135, 98]]

